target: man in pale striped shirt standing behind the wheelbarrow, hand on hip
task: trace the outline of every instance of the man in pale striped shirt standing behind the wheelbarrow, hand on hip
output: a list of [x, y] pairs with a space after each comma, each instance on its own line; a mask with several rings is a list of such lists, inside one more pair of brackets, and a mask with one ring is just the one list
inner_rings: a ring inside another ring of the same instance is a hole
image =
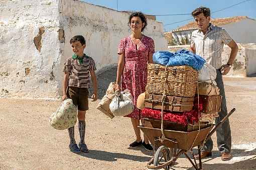
[[[190, 50], [194, 53], [202, 56], [207, 63], [216, 68], [217, 86], [220, 89], [220, 95], [222, 95], [221, 110], [219, 117], [216, 117], [215, 123], [219, 123], [221, 119], [227, 114], [226, 97], [224, 91], [224, 84], [222, 75], [226, 75], [236, 56], [238, 46], [235, 41], [228, 35], [224, 28], [215, 26], [210, 23], [210, 9], [206, 7], [196, 8], [192, 15], [199, 27], [198, 30], [192, 32]], [[221, 63], [221, 52], [223, 45], [227, 44], [231, 48], [230, 56], [226, 64]], [[221, 152], [221, 160], [231, 159], [231, 131], [228, 119], [216, 130], [217, 145]], [[212, 139], [207, 140], [202, 148], [201, 156], [211, 156], [211, 150], [213, 147]], [[198, 155], [196, 155], [198, 158]]]

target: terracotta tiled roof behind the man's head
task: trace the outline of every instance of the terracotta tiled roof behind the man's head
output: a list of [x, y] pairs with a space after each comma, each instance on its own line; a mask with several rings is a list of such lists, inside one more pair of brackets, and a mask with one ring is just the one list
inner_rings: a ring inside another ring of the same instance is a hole
[[[237, 21], [240, 21], [240, 20], [243, 20], [246, 18], [248, 18], [248, 17], [247, 16], [233, 16], [233, 17], [211, 19], [210, 22], [214, 25], [220, 26], [220, 25], [237, 22]], [[178, 27], [177, 29], [172, 30], [172, 32], [181, 31], [181, 30], [191, 30], [191, 29], [198, 29], [198, 26], [195, 21], [189, 22], [188, 24]]]

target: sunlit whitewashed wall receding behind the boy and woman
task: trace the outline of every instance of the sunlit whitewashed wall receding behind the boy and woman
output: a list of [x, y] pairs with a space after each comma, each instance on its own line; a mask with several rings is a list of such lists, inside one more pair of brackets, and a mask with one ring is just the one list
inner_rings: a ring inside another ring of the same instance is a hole
[[[60, 9], [65, 31], [64, 60], [72, 55], [70, 38], [81, 34], [86, 39], [85, 53], [93, 57], [97, 69], [117, 63], [119, 42], [131, 34], [127, 25], [129, 14], [73, 0], [61, 0]], [[156, 50], [167, 49], [162, 23], [148, 19], [144, 34], [154, 39]]]

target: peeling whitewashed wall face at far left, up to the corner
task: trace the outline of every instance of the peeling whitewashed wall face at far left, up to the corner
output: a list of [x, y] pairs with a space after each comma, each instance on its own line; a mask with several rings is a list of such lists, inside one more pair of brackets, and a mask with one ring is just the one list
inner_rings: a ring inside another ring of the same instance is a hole
[[[0, 96], [56, 94], [51, 71], [60, 50], [58, 16], [58, 0], [0, 1]], [[33, 42], [40, 27], [41, 52]]]

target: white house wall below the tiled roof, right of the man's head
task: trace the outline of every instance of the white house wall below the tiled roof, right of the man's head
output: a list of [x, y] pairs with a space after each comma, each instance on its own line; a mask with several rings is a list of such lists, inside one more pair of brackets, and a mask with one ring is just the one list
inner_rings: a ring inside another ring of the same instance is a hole
[[254, 19], [246, 18], [220, 27], [224, 27], [237, 43], [256, 43], [256, 20]]

